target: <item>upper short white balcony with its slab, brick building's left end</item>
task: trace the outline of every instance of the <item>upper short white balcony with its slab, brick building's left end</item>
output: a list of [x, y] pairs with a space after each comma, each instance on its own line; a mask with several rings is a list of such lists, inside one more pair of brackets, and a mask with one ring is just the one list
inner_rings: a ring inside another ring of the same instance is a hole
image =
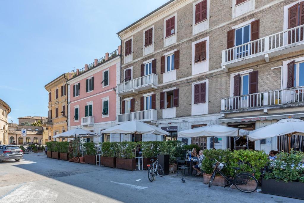
[[116, 93], [119, 96], [123, 96], [131, 93], [138, 93], [139, 91], [146, 89], [157, 89], [157, 87], [157, 75], [152, 73], [150, 75], [145, 75], [143, 77], [118, 84]]

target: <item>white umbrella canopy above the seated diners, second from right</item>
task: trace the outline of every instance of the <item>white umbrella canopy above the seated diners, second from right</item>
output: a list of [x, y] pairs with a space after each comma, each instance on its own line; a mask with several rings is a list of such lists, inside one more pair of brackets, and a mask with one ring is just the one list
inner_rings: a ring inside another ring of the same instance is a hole
[[246, 136], [248, 135], [247, 130], [231, 128], [223, 125], [206, 125], [199, 128], [192, 128], [189, 130], [184, 130], [178, 132], [178, 137], [186, 138], [186, 137], [235, 137], [235, 136]]

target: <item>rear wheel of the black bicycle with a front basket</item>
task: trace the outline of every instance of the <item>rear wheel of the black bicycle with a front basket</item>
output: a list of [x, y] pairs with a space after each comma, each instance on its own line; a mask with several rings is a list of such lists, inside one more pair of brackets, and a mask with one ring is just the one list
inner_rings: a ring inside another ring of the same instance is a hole
[[254, 192], [257, 190], [257, 179], [249, 173], [237, 174], [234, 177], [234, 185], [242, 192]]

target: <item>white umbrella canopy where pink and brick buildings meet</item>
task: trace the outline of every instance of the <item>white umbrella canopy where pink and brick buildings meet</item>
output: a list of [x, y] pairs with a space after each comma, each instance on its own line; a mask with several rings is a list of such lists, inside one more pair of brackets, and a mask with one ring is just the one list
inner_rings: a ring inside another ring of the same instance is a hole
[[157, 128], [154, 125], [149, 125], [141, 121], [128, 121], [112, 128], [105, 129], [101, 133], [120, 133], [120, 134], [154, 134], [154, 135], [169, 135], [167, 131]]

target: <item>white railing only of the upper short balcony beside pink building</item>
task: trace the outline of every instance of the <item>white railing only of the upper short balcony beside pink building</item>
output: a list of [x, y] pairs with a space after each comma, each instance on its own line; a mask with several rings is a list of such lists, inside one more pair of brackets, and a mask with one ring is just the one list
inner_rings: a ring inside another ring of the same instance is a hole
[[138, 89], [147, 85], [157, 86], [157, 75], [152, 73], [150, 75], [145, 75], [140, 78], [136, 78], [127, 82], [123, 82], [117, 85], [117, 93], [124, 92], [127, 90]]

